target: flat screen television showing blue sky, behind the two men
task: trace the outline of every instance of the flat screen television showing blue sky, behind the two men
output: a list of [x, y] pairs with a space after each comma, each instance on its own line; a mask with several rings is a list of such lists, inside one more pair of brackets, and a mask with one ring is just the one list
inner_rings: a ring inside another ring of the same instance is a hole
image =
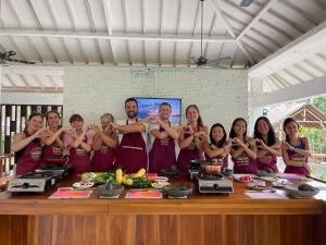
[[172, 108], [170, 121], [172, 123], [181, 123], [181, 99], [178, 98], [145, 98], [135, 97], [138, 102], [138, 117], [145, 119], [150, 114], [159, 114], [159, 108], [162, 102], [168, 102]]

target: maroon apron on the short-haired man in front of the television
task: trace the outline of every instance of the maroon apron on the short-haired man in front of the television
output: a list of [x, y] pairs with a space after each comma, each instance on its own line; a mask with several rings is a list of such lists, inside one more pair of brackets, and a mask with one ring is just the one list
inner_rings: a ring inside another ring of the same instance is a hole
[[[160, 132], [164, 130], [160, 127]], [[175, 143], [172, 137], [155, 138], [149, 152], [149, 172], [159, 173], [162, 169], [176, 166]]]

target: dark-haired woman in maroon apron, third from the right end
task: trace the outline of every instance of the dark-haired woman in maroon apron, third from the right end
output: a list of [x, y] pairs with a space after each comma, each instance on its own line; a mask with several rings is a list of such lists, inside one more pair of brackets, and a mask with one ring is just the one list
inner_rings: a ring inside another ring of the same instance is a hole
[[229, 138], [234, 146], [230, 149], [235, 173], [256, 173], [256, 147], [253, 138], [247, 136], [247, 122], [237, 118], [231, 125]]

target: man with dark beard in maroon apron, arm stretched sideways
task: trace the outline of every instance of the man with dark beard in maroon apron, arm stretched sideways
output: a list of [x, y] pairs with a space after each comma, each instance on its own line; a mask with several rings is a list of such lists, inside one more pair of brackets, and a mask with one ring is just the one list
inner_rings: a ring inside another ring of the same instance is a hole
[[125, 111], [128, 119], [126, 125], [111, 123], [114, 130], [122, 134], [117, 147], [115, 166], [122, 167], [126, 172], [134, 173], [139, 169], [147, 169], [147, 123], [137, 120], [138, 102], [135, 98], [125, 101]]

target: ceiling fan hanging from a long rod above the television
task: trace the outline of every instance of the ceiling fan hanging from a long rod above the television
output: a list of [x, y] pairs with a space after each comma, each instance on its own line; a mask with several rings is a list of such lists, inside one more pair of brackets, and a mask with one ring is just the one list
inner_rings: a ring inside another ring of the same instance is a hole
[[223, 57], [223, 58], [217, 58], [215, 60], [209, 60], [205, 58], [202, 53], [202, 28], [203, 28], [203, 2], [204, 0], [200, 0], [201, 2], [201, 21], [200, 21], [200, 57], [195, 58], [195, 57], [189, 57], [190, 58], [190, 64], [196, 65], [197, 68], [223, 68], [223, 69], [229, 69], [229, 65], [221, 64], [221, 61], [227, 61], [230, 60], [230, 57]]

